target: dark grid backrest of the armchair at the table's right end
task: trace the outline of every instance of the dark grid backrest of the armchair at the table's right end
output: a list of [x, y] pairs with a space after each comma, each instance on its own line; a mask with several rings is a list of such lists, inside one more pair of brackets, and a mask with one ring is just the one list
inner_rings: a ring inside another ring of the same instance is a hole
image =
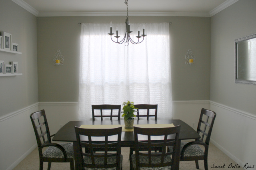
[[[204, 115], [205, 115], [204, 119], [206, 119], [205, 121], [203, 120]], [[209, 122], [210, 121], [209, 117], [211, 118], [211, 122]], [[200, 132], [201, 132], [202, 137], [201, 137], [201, 139], [197, 139], [197, 140], [199, 140], [201, 142], [204, 142], [207, 145], [209, 145], [210, 137], [211, 137], [211, 133], [212, 133], [212, 127], [213, 127], [213, 124], [214, 124], [215, 117], [216, 117], [216, 113], [214, 111], [202, 108], [200, 118], [199, 118], [199, 122], [198, 122], [198, 127], [197, 127], [197, 133], [200, 135]], [[202, 129], [201, 129], [202, 124], [204, 124], [203, 125], [204, 127], [202, 127]], [[206, 131], [208, 131], [208, 132], [206, 132]], [[205, 141], [204, 141], [204, 136], [206, 136]]]

